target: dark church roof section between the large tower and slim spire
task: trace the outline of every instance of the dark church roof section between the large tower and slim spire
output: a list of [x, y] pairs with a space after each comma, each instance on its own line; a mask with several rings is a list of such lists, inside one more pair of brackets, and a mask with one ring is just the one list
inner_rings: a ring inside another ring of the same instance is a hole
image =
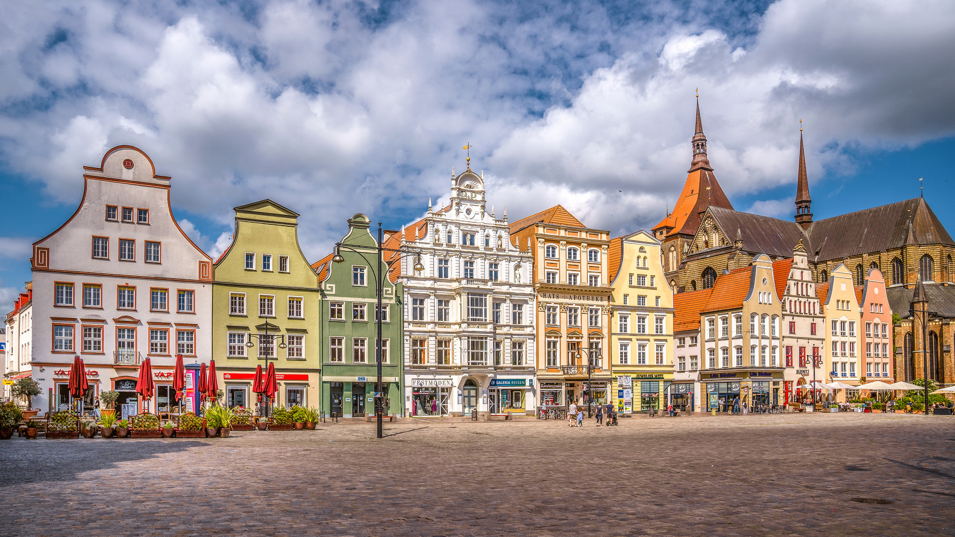
[[[731, 237], [730, 230], [740, 231], [743, 238], [743, 250], [747, 252], [766, 254], [774, 258], [792, 258], [793, 245], [800, 239], [803, 244], [811, 244], [796, 222], [722, 207], [711, 207], [710, 214], [719, 223], [727, 237]], [[806, 250], [811, 249], [807, 246]]]

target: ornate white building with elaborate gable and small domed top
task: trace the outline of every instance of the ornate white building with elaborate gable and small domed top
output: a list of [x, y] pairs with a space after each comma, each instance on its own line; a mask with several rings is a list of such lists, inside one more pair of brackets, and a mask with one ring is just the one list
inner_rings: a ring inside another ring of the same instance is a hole
[[451, 204], [429, 203], [385, 243], [420, 252], [425, 267], [407, 257], [391, 272], [404, 283], [409, 416], [534, 412], [533, 261], [511, 243], [506, 208], [488, 211], [482, 176], [452, 171]]

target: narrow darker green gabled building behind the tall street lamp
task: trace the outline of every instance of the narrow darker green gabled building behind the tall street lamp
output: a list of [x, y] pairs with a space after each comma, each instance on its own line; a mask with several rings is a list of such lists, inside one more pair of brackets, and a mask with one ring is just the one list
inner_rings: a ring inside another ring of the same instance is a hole
[[[375, 278], [377, 241], [371, 235], [369, 218], [357, 214], [349, 220], [349, 233], [342, 239], [339, 254], [312, 268], [322, 289], [322, 410], [327, 415], [361, 417], [374, 415], [374, 384], [377, 380], [375, 341]], [[355, 250], [355, 251], [352, 251]], [[386, 266], [382, 262], [382, 266]], [[404, 404], [403, 343], [404, 322], [398, 298], [401, 284], [383, 279], [382, 309], [382, 391], [386, 414], [399, 415]]]

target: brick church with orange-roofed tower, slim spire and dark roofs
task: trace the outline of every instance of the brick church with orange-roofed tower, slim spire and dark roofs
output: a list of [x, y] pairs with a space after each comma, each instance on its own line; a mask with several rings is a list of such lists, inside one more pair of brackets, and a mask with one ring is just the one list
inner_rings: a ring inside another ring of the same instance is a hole
[[[793, 220], [743, 213], [732, 208], [713, 174], [698, 100], [692, 148], [683, 192], [673, 211], [652, 230], [663, 243], [664, 270], [674, 292], [709, 289], [718, 275], [748, 266], [760, 254], [774, 260], [792, 258], [801, 240], [813, 277], [820, 283], [828, 282], [840, 264], [859, 286], [871, 269], [884, 275], [897, 318], [896, 379], [922, 379], [927, 365], [928, 378], [955, 383], [949, 324], [955, 318], [951, 284], [955, 241], [923, 197], [814, 220], [800, 132]], [[922, 311], [921, 301], [913, 302], [913, 295], [926, 300], [930, 312], [924, 338], [921, 313], [911, 313], [913, 308]]]

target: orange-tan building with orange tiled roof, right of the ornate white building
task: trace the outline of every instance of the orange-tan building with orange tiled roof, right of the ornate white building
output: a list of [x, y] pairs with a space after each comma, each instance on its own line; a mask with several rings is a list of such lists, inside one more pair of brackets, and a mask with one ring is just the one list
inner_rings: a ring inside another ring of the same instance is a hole
[[607, 403], [609, 233], [557, 205], [512, 223], [511, 236], [534, 258], [541, 403]]

